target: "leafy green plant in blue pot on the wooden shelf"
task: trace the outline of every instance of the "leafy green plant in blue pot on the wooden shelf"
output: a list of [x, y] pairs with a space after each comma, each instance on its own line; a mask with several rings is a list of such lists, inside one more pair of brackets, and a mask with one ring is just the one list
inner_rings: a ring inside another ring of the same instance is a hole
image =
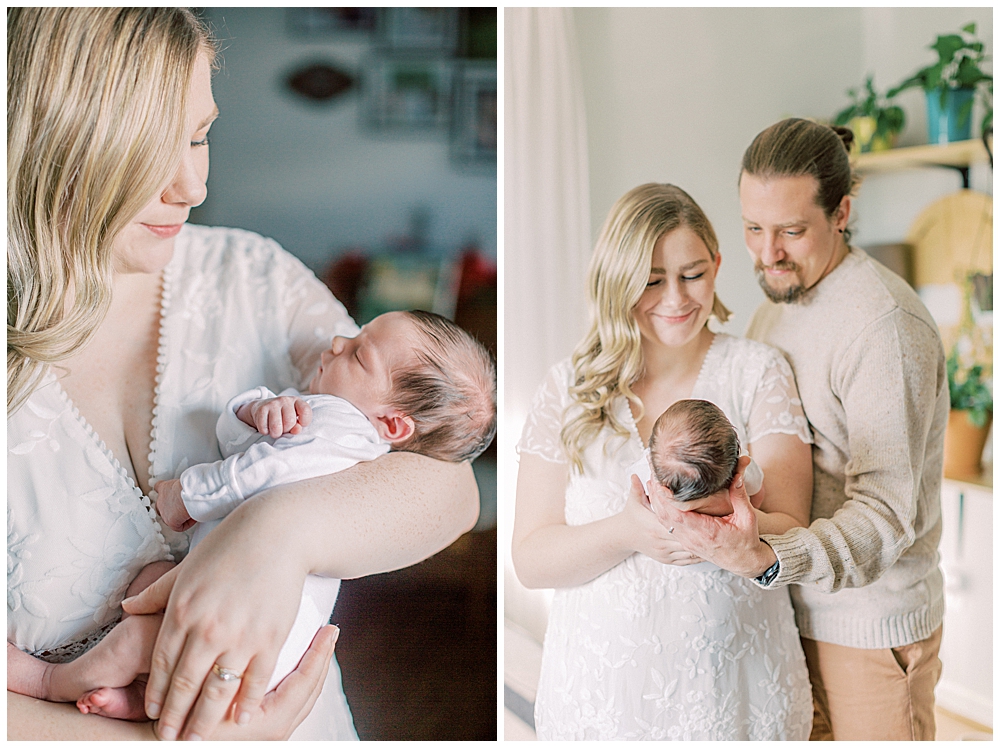
[[891, 89], [887, 96], [892, 98], [908, 88], [923, 88], [927, 97], [928, 140], [931, 143], [968, 140], [972, 134], [972, 102], [977, 90], [983, 93], [986, 119], [990, 123], [993, 120], [992, 95], [987, 98], [985, 91], [988, 85], [992, 94], [993, 76], [980, 68], [986, 54], [983, 43], [976, 39], [976, 24], [963, 26], [960, 34], [939, 36], [930, 49], [938, 53], [938, 61], [918, 70]]

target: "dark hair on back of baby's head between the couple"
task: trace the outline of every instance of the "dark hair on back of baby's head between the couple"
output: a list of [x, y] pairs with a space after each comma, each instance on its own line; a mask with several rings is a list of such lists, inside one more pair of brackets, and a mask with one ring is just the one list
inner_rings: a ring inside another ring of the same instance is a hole
[[656, 419], [649, 437], [650, 463], [676, 501], [693, 501], [732, 483], [740, 459], [736, 429], [707, 400], [678, 400]]

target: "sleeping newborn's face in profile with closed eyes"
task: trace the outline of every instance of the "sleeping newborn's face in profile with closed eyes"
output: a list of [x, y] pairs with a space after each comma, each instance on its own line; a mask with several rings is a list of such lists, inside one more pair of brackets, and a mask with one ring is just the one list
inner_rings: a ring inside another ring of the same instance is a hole
[[309, 383], [314, 395], [342, 397], [374, 421], [387, 410], [392, 372], [413, 358], [413, 324], [401, 312], [376, 317], [354, 338], [336, 337]]

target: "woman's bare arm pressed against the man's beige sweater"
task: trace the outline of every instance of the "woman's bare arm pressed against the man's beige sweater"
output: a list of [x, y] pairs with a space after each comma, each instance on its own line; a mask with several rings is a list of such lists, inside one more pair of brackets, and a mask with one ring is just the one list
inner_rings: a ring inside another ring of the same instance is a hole
[[812, 508], [812, 446], [793, 434], [768, 434], [748, 446], [764, 471], [764, 500], [757, 514], [761, 535], [808, 527]]

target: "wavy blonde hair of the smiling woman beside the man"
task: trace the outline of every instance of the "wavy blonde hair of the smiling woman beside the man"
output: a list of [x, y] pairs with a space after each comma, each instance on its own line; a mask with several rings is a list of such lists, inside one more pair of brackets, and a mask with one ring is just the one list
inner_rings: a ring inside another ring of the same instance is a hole
[[[642, 336], [632, 310], [649, 281], [653, 246], [681, 226], [705, 242], [714, 260], [719, 240], [712, 224], [690, 195], [671, 184], [644, 184], [627, 192], [601, 228], [587, 277], [590, 330], [573, 351], [574, 406], [561, 434], [577, 471], [583, 469], [583, 451], [605, 425], [628, 438], [628, 429], [614, 416], [617, 397], [624, 395], [642, 417], [642, 401], [632, 391], [644, 366]], [[729, 319], [718, 296], [712, 314], [720, 322]]]

